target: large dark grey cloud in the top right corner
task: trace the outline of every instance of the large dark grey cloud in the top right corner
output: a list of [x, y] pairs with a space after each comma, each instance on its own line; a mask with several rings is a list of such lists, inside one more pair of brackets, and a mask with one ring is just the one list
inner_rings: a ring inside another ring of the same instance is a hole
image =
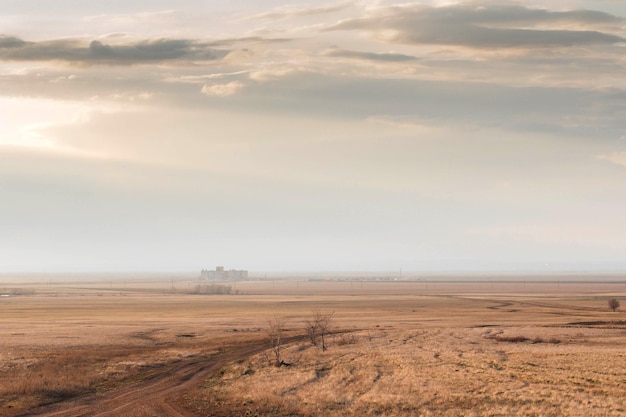
[[[522, 6], [472, 4], [393, 7], [375, 16], [346, 20], [328, 30], [393, 31], [392, 40], [415, 44], [554, 47], [623, 42], [624, 38], [601, 31], [605, 26], [620, 22], [623, 22], [620, 17], [590, 10], [554, 12]], [[578, 25], [581, 29], [560, 29], [564, 23]], [[583, 30], [589, 27], [597, 30]]]

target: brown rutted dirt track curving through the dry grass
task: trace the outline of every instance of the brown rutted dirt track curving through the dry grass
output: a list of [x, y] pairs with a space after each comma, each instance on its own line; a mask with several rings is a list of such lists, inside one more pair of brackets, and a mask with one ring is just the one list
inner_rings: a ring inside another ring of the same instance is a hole
[[245, 342], [215, 356], [176, 362], [164, 367], [156, 376], [122, 389], [41, 407], [19, 417], [192, 417], [194, 414], [179, 404], [180, 396], [229, 362], [265, 349], [267, 343], [263, 341]]

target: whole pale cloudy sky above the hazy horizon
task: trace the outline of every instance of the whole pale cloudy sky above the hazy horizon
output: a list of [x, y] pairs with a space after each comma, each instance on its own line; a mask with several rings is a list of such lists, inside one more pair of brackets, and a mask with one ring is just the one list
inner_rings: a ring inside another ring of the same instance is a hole
[[0, 272], [626, 271], [626, 2], [2, 0]]

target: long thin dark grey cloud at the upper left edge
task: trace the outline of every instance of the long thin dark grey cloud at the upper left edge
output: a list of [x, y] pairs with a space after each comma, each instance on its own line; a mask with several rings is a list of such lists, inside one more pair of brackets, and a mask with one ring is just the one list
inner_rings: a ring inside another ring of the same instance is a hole
[[131, 65], [167, 61], [210, 61], [228, 54], [208, 44], [187, 39], [155, 39], [127, 44], [107, 44], [78, 39], [27, 42], [0, 37], [0, 60], [66, 61], [83, 64]]

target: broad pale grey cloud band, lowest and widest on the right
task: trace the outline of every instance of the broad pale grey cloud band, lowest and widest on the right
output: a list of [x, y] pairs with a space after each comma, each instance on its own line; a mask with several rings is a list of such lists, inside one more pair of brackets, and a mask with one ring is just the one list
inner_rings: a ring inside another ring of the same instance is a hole
[[[617, 92], [558, 86], [508, 86], [460, 80], [375, 79], [294, 73], [262, 84], [222, 107], [345, 120], [387, 116], [398, 124], [483, 126], [566, 137], [623, 135]], [[210, 103], [196, 104], [209, 105]], [[609, 106], [607, 103], [612, 104]], [[620, 133], [621, 132], [621, 133]]]

